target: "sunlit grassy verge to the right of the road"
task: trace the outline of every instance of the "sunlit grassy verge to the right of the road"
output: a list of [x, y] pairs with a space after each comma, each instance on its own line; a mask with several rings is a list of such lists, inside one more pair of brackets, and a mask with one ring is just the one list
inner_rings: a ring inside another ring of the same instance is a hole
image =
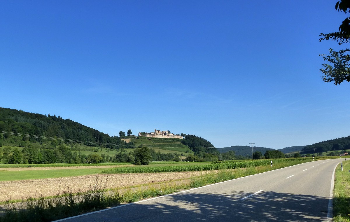
[[[345, 159], [344, 159], [345, 160]], [[343, 171], [340, 165], [335, 171], [333, 221], [350, 222], [350, 161], [343, 162]]]

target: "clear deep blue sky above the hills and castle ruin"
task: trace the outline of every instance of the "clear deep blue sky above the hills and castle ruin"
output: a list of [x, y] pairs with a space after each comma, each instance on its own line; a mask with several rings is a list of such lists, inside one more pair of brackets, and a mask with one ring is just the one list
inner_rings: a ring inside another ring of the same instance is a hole
[[1, 1], [0, 106], [215, 147], [349, 136], [350, 83], [319, 72], [335, 3]]

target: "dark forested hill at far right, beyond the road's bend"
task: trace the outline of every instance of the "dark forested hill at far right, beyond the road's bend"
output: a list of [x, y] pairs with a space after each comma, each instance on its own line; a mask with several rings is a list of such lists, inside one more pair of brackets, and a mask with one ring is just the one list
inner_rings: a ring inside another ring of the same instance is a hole
[[323, 142], [318, 142], [312, 145], [305, 146], [301, 151], [302, 153], [314, 153], [313, 149], [316, 149], [316, 153], [322, 153], [332, 150], [349, 150], [350, 149], [350, 136], [341, 137], [337, 139], [331, 139]]

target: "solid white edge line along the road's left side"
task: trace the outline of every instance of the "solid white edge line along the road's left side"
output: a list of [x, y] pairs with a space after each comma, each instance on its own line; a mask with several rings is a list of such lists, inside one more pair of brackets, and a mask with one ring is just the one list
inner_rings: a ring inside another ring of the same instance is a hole
[[[301, 163], [301, 164], [307, 164], [307, 163], [309, 163], [309, 162], [305, 162], [305, 163]], [[301, 164], [297, 164], [297, 165], [301, 165]], [[289, 166], [289, 167], [295, 167], [297, 165], [293, 165], [293, 166]], [[254, 175], [259, 175], [259, 174], [263, 174], [263, 173], [278, 171], [278, 170], [286, 169], [286, 168], [289, 168], [289, 167], [283, 167], [283, 168], [279, 168], [279, 169], [274, 169], [272, 171], [266, 171], [266, 172], [262, 172], [262, 173], [258, 173], [258, 174], [249, 175], [249, 176], [254, 176]], [[225, 182], [230, 182], [230, 181], [233, 181], [233, 180], [239, 180], [239, 179], [243, 179], [243, 178], [246, 178], [246, 177], [249, 177], [249, 176], [244, 176], [244, 177], [240, 177], [240, 178], [236, 178], [236, 179], [232, 179], [232, 180], [226, 180], [226, 181], [223, 181], [223, 182], [213, 183], [213, 184], [209, 184], [209, 185], [206, 185], [206, 186], [203, 186], [203, 187], [209, 187], [209, 186], [217, 185], [219, 183], [225, 183]], [[103, 209], [103, 210], [92, 211], [90, 213], [80, 214], [80, 215], [76, 215], [76, 216], [72, 216], [72, 217], [66, 217], [66, 218], [62, 218], [62, 219], [59, 219], [59, 220], [56, 220], [56, 221], [51, 221], [51, 222], [65, 221], [65, 220], [69, 220], [69, 219], [76, 218], [76, 217], [81, 217], [81, 216], [85, 216], [85, 215], [89, 215], [89, 214], [99, 213], [99, 212], [102, 212], [102, 211], [105, 211], [105, 210], [112, 210], [112, 209], [116, 209], [116, 208], [119, 208], [119, 207], [126, 207], [126, 206], [131, 205], [131, 204], [136, 204], [136, 203], [141, 203], [141, 202], [144, 202], [144, 201], [154, 200], [154, 199], [158, 199], [158, 198], [165, 197], [165, 196], [171, 196], [171, 195], [175, 195], [175, 194], [180, 194], [180, 193], [188, 192], [190, 190], [195, 190], [195, 189], [199, 189], [199, 188], [202, 188], [202, 187], [192, 188], [192, 189], [189, 189], [189, 190], [183, 190], [183, 191], [180, 191], [180, 192], [177, 192], [177, 193], [168, 194], [168, 195], [157, 196], [157, 197], [153, 197], [153, 198], [150, 198], [150, 199], [140, 200], [138, 202], [122, 204], [122, 205], [117, 206], [117, 207], [111, 207], [111, 208], [106, 208], [106, 209]]]

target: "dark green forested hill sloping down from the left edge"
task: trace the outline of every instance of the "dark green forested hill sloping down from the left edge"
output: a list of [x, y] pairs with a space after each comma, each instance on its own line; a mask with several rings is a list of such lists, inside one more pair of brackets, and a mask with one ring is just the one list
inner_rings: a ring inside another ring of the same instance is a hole
[[[20, 136], [20, 134], [36, 137]], [[46, 116], [0, 107], [0, 143], [2, 143], [1, 140], [11, 143], [23, 143], [26, 140], [55, 143], [55, 140], [45, 137], [64, 139], [66, 142], [84, 141], [87, 146], [103, 146], [113, 149], [126, 148], [126, 145], [134, 147], [132, 143], [125, 143], [117, 136], [109, 136], [60, 116], [50, 114]]]

